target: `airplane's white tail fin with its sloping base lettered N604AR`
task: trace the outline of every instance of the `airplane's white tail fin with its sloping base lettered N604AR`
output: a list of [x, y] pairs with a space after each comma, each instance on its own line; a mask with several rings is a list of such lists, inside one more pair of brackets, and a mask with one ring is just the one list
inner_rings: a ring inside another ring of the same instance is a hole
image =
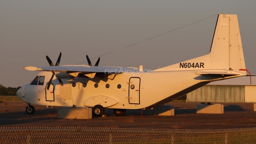
[[218, 15], [209, 54], [154, 71], [206, 70], [227, 73], [227, 70], [235, 70], [238, 73], [246, 73], [239, 69], [245, 69], [245, 62], [237, 15], [222, 13]]

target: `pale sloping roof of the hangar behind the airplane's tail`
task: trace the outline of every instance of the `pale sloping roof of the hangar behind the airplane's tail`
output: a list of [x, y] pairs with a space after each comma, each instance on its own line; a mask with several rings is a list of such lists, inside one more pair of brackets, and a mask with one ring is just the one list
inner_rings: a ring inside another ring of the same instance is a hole
[[211, 82], [207, 85], [256, 85], [256, 76], [241, 76], [236, 78], [229, 78], [222, 81]]

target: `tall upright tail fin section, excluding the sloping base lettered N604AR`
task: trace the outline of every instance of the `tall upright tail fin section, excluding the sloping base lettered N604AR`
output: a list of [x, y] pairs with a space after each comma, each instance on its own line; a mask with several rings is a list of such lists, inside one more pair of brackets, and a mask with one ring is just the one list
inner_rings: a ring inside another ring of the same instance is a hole
[[245, 69], [236, 14], [219, 14], [212, 40], [210, 59], [211, 68]]

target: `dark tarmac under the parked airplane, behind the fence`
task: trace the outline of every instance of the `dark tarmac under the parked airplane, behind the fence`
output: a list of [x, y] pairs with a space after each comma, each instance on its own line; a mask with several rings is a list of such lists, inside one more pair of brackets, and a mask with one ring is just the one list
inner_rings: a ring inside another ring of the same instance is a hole
[[220, 103], [224, 114], [197, 114], [198, 102], [170, 102], [175, 107], [174, 116], [145, 116], [141, 110], [127, 110], [125, 116], [115, 116], [107, 109], [107, 117], [92, 119], [58, 119], [58, 107], [35, 107], [28, 115], [25, 102], [0, 102], [1, 127], [27, 126], [87, 126], [87, 127], [134, 127], [147, 129], [234, 129], [256, 127], [256, 111], [253, 103]]

